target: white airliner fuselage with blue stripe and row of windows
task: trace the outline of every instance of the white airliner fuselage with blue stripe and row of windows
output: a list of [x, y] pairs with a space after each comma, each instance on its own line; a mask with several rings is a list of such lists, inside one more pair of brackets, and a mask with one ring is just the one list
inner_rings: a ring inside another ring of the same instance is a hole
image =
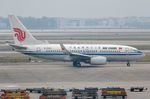
[[[40, 58], [59, 61], [72, 61], [72, 58], [65, 54], [60, 44], [24, 45], [26, 50], [19, 52]], [[107, 61], [136, 61], [144, 54], [134, 47], [122, 45], [101, 45], [101, 44], [64, 44], [71, 53], [84, 55], [104, 56]]]

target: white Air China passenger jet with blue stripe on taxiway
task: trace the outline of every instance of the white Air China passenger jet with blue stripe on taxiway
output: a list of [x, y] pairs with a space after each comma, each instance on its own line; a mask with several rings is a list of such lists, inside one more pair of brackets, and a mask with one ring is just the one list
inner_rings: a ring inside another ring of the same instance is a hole
[[37, 40], [14, 15], [9, 15], [15, 51], [34, 57], [72, 62], [74, 67], [81, 63], [105, 65], [107, 62], [130, 62], [145, 56], [137, 48], [112, 44], [50, 44]]

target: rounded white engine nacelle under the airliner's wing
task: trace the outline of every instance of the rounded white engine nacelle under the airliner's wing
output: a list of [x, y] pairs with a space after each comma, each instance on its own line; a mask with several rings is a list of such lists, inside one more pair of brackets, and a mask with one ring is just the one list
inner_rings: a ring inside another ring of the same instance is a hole
[[106, 57], [103, 57], [103, 56], [92, 57], [90, 60], [90, 63], [92, 65], [104, 65], [106, 64], [106, 62], [107, 62], [107, 59]]

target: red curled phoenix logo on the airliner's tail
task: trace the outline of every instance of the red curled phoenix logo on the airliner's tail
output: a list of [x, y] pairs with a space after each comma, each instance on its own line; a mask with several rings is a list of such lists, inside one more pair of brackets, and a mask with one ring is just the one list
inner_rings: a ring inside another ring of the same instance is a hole
[[17, 37], [18, 41], [23, 42], [26, 38], [25, 31], [19, 29], [19, 28], [13, 28], [15, 33], [15, 37]]

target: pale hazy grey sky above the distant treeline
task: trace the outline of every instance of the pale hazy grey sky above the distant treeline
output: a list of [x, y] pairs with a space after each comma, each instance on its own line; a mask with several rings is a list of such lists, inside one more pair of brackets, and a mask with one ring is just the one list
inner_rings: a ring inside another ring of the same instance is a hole
[[150, 0], [0, 0], [0, 16], [102, 18], [150, 16]]

